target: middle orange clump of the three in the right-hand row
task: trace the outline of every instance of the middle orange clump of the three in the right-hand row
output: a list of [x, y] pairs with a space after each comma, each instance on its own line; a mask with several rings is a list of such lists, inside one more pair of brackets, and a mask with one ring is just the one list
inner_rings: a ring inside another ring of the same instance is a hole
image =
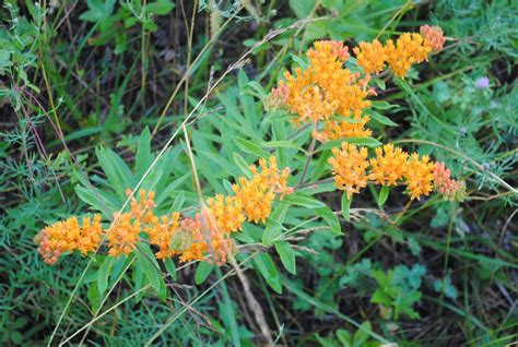
[[370, 159], [370, 179], [376, 183], [396, 186], [404, 176], [404, 168], [409, 155], [401, 148], [387, 144], [376, 148], [376, 158]]

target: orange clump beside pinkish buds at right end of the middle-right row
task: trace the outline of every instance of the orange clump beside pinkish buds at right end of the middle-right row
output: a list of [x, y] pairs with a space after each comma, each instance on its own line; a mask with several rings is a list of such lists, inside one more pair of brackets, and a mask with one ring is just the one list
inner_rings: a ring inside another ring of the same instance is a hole
[[404, 166], [404, 178], [411, 200], [420, 200], [421, 195], [429, 194], [434, 181], [434, 167], [427, 155], [421, 159], [416, 153], [410, 156]]

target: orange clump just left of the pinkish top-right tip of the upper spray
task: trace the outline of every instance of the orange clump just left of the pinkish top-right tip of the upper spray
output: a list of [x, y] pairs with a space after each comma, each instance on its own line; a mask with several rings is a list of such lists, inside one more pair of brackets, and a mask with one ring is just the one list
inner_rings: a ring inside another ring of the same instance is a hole
[[390, 69], [400, 77], [407, 74], [412, 64], [423, 62], [432, 51], [432, 47], [417, 33], [404, 33], [396, 45], [389, 39], [385, 49]]

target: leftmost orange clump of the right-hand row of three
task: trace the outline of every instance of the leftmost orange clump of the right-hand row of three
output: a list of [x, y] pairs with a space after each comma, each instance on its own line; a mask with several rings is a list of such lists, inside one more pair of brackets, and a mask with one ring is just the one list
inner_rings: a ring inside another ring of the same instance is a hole
[[360, 193], [361, 188], [367, 186], [367, 148], [342, 142], [342, 148], [332, 148], [329, 164], [332, 166], [334, 184], [338, 189], [348, 192], [351, 199], [353, 193]]

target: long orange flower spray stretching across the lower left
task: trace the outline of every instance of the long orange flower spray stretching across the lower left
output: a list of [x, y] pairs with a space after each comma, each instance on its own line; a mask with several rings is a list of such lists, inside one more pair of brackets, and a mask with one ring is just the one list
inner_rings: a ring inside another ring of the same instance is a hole
[[[103, 229], [101, 215], [95, 215], [93, 222], [83, 218], [82, 226], [71, 217], [46, 227], [35, 238], [38, 252], [45, 262], [54, 264], [63, 253], [78, 250], [86, 254], [96, 250], [106, 236], [109, 255], [128, 255], [148, 235], [150, 244], [158, 249], [157, 259], [178, 255], [183, 262], [204, 260], [222, 264], [236, 249], [229, 235], [242, 230], [245, 220], [266, 222], [273, 201], [293, 191], [287, 187], [290, 169], [280, 170], [274, 157], [269, 161], [260, 159], [259, 168], [251, 165], [250, 170], [250, 179], [242, 177], [233, 186], [235, 195], [209, 198], [193, 218], [181, 218], [179, 213], [156, 216], [154, 192], [141, 190], [139, 199], [131, 199], [130, 211], [116, 214], [107, 229]], [[127, 194], [132, 192], [128, 190]], [[208, 254], [212, 256], [205, 259]]]

